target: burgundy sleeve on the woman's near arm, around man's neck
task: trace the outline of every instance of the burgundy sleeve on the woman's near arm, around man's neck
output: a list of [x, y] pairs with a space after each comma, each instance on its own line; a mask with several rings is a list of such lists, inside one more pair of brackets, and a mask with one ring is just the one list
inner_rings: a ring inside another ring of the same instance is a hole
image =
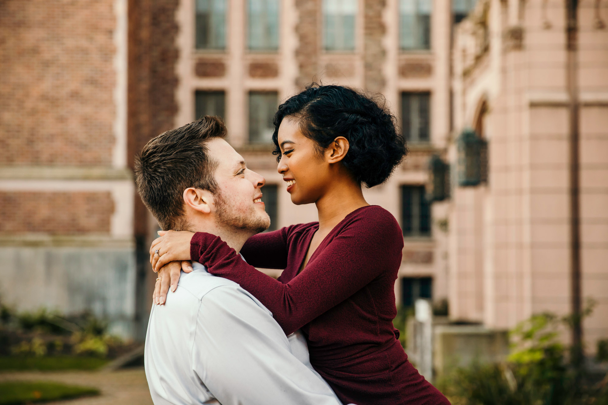
[[355, 218], [309, 261], [305, 271], [285, 284], [248, 265], [215, 235], [197, 232], [190, 254], [210, 273], [253, 294], [291, 334], [376, 277], [399, 268], [403, 238], [395, 218], [389, 216]]

